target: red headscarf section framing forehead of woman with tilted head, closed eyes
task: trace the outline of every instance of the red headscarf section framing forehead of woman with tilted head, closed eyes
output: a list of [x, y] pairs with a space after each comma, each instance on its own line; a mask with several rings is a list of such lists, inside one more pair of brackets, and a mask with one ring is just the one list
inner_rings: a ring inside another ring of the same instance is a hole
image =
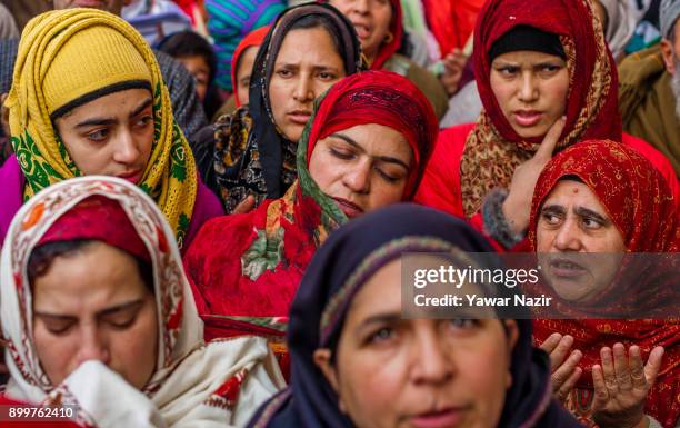
[[[411, 199], [417, 179], [422, 176], [432, 152], [430, 141], [434, 141], [439, 132], [432, 104], [416, 86], [389, 71], [364, 74], [360, 80], [343, 81], [339, 84], [341, 88], [331, 91], [317, 112], [318, 121], [314, 123], [320, 126], [314, 127], [310, 133], [308, 165], [318, 140], [357, 125], [383, 125], [401, 132], [411, 147], [416, 168], [411, 169], [403, 193], [404, 199]], [[381, 87], [398, 89], [404, 97], [383, 99], [376, 96], [376, 91], [381, 91]], [[422, 112], [427, 113], [423, 116]]]

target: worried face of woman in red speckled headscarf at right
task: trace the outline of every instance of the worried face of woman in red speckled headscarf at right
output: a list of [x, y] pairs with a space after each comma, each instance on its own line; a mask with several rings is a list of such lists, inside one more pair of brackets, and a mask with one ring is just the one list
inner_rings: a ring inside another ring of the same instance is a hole
[[536, 236], [543, 276], [570, 301], [588, 301], [608, 287], [626, 251], [607, 209], [580, 181], [557, 183], [540, 209]]

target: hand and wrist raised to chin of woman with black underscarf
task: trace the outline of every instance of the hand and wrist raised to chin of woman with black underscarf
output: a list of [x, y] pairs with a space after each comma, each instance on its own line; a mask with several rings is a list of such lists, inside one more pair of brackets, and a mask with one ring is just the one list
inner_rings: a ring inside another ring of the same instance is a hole
[[533, 188], [536, 188], [536, 182], [541, 171], [552, 159], [552, 153], [562, 135], [566, 122], [566, 117], [556, 120], [546, 133], [546, 137], [543, 137], [543, 141], [536, 151], [536, 155], [517, 167], [512, 173], [508, 198], [503, 202], [503, 216], [510, 228], [518, 235], [529, 227]]

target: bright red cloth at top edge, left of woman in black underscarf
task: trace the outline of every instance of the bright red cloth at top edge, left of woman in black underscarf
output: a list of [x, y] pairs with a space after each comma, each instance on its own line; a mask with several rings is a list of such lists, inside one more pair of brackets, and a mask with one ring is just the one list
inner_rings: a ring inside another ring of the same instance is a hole
[[442, 58], [454, 48], [464, 48], [484, 1], [423, 0], [426, 20], [439, 43]]

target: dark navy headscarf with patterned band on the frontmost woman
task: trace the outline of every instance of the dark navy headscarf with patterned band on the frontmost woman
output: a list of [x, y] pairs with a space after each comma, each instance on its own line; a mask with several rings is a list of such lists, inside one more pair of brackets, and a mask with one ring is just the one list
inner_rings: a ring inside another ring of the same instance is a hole
[[[493, 252], [487, 240], [464, 221], [411, 203], [368, 213], [334, 231], [312, 259], [291, 308], [288, 336], [291, 386], [266, 404], [249, 426], [352, 428], [351, 420], [338, 408], [338, 396], [314, 365], [313, 351], [337, 339], [356, 292], [381, 267], [404, 252], [456, 249]], [[374, 262], [367, 266], [368, 258]], [[357, 275], [362, 263], [361, 279], [354, 280], [356, 286], [348, 290], [348, 278]], [[324, 317], [331, 300], [337, 310]], [[532, 347], [531, 321], [518, 319], [517, 324], [512, 387], [498, 427], [581, 427], [551, 398], [550, 364], [543, 351]]]

